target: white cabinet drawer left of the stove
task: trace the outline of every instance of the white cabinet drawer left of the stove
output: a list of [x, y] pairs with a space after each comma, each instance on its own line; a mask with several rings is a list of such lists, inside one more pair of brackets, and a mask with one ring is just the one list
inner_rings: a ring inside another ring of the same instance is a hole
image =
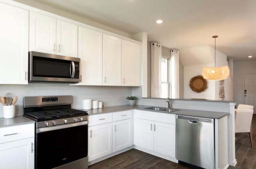
[[0, 143], [6, 143], [35, 136], [35, 124], [24, 124], [0, 128]]

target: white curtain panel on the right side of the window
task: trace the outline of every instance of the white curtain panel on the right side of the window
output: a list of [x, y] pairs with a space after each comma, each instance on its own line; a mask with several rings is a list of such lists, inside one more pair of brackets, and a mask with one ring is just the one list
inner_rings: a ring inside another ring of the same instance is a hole
[[171, 93], [172, 98], [180, 97], [179, 51], [171, 50]]

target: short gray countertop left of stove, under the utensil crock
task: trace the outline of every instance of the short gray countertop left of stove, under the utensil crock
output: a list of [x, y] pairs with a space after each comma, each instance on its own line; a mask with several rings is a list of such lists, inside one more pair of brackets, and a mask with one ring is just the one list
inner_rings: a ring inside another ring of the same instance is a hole
[[0, 128], [8, 127], [8, 126], [15, 126], [20, 124], [31, 124], [35, 123], [34, 120], [26, 118], [24, 116], [17, 116], [15, 118], [0, 118]]

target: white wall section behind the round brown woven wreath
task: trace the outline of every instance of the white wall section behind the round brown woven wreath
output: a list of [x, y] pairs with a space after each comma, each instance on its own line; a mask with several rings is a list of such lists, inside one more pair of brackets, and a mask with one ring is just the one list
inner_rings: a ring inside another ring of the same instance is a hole
[[194, 92], [190, 86], [190, 79], [202, 75], [204, 67], [214, 67], [214, 64], [184, 66], [184, 98], [208, 98], [215, 99], [215, 81], [207, 81], [208, 88], [204, 92]]

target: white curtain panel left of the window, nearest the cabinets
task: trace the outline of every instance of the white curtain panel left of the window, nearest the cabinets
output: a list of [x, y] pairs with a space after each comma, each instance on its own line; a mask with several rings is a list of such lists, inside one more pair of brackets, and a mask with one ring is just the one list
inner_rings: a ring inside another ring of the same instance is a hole
[[162, 46], [151, 43], [151, 97], [161, 97]]

